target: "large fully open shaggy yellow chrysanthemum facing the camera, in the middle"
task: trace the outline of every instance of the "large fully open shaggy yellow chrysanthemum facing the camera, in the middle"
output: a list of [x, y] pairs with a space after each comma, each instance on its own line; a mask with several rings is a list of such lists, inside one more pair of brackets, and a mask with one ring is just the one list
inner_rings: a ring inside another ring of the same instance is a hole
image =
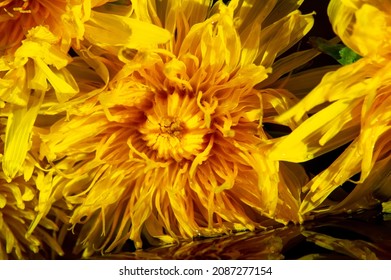
[[294, 103], [267, 87], [316, 54], [275, 62], [312, 15], [301, 1], [211, 3], [132, 1], [132, 32], [162, 27], [167, 43], [102, 44], [123, 68], [41, 135], [50, 188], [74, 206], [85, 256], [128, 239], [140, 248], [142, 236], [174, 242], [298, 221], [306, 175], [267, 158], [263, 123]]

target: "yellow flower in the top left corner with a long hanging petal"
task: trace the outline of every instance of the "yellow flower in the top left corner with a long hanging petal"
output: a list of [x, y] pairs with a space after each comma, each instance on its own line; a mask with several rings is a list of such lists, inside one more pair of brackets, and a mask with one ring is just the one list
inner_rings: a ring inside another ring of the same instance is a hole
[[[118, 38], [113, 40], [109, 37], [106, 41], [115, 43], [117, 47], [128, 46], [129, 37], [134, 33], [131, 32], [133, 21], [127, 17], [92, 10], [107, 1], [57, 2], [57, 6], [53, 1], [42, 0], [1, 2], [4, 20], [0, 22], [0, 37], [4, 38], [1, 45], [4, 54], [0, 57], [0, 108], [8, 117], [2, 163], [7, 181], [23, 173], [32, 127], [38, 115], [59, 113], [61, 110], [58, 110], [58, 106], [57, 109], [53, 108], [56, 103], [63, 104], [78, 97], [83, 76], [75, 78], [69, 70], [72, 68], [72, 58], [68, 51], [72, 39], [77, 41], [75, 45], [79, 48], [79, 40], [84, 40], [86, 36], [83, 44], [93, 47], [93, 40], [88, 40], [92, 37], [90, 33], [105, 33], [105, 28], [99, 30], [95, 27], [105, 26], [105, 21], [113, 23], [110, 26], [115, 29], [112, 35]], [[9, 30], [12, 30], [11, 35]], [[145, 44], [168, 40], [167, 31], [157, 27], [151, 28], [151, 31], [150, 37], [144, 40]], [[140, 36], [133, 37], [140, 39]], [[100, 44], [107, 44], [104, 39], [99, 39]], [[10, 45], [7, 40], [13, 44]], [[88, 54], [84, 57], [91, 60]], [[89, 64], [94, 69], [99, 67], [95, 65], [97, 62]], [[100, 71], [98, 75], [107, 80], [108, 73]]]

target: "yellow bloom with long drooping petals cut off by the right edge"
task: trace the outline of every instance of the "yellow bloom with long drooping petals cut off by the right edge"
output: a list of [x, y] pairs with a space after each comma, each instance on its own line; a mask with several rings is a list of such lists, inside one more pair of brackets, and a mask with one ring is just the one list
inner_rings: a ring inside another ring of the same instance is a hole
[[[277, 118], [299, 120], [321, 108], [271, 150], [274, 159], [304, 162], [344, 144], [344, 152], [308, 182], [300, 208], [311, 213], [338, 213], [370, 207], [391, 197], [391, 5], [387, 1], [331, 0], [333, 28], [363, 58], [326, 74], [294, 108]], [[330, 194], [359, 175], [357, 185], [342, 199]]]

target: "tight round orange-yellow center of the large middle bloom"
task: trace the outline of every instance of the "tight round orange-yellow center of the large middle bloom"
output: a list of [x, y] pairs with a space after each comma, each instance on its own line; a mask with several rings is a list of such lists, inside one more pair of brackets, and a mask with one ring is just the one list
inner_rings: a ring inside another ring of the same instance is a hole
[[205, 148], [208, 129], [194, 98], [178, 93], [157, 97], [145, 115], [139, 132], [157, 158], [191, 160]]

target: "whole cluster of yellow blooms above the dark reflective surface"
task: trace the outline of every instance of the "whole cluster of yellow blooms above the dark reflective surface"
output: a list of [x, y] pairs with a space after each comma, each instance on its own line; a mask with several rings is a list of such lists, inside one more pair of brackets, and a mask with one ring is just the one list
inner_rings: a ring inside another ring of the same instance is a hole
[[[291, 75], [318, 54], [285, 54], [314, 23], [302, 2], [0, 1], [0, 259], [56, 257], [69, 236], [88, 257], [386, 201], [391, 4], [331, 0], [362, 58]], [[316, 176], [300, 164], [348, 143]]]

